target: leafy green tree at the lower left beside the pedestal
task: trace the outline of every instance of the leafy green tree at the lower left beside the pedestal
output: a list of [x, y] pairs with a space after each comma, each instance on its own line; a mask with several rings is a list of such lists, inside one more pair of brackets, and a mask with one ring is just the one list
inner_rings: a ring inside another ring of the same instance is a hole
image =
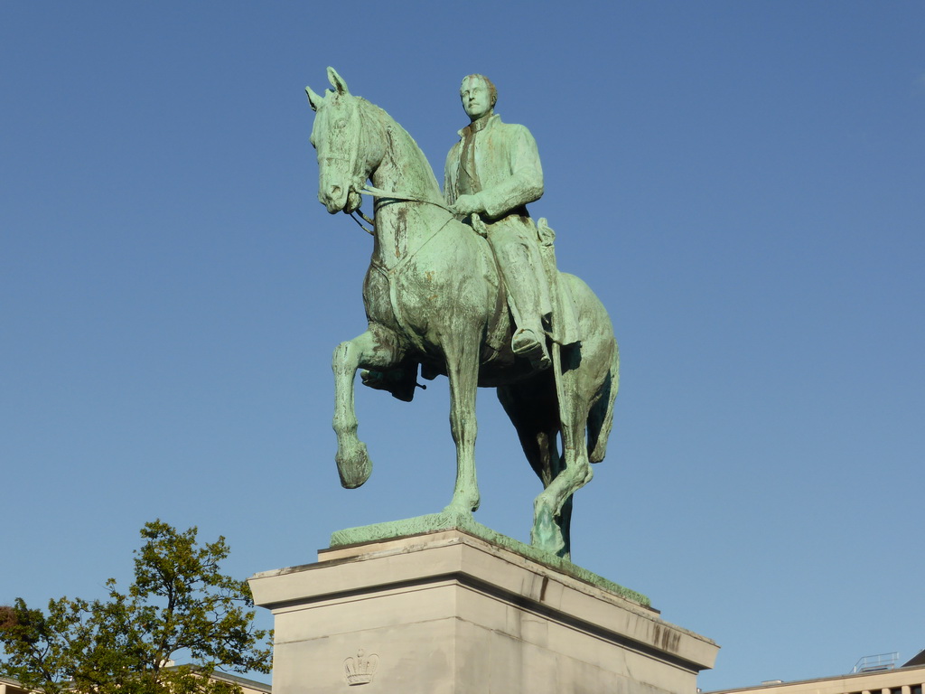
[[[247, 581], [225, 576], [225, 538], [202, 547], [197, 528], [142, 527], [128, 592], [106, 581], [105, 601], [17, 599], [0, 607], [0, 675], [45, 694], [234, 694], [216, 669], [270, 671], [270, 632], [253, 627]], [[174, 656], [191, 664], [173, 666]]]

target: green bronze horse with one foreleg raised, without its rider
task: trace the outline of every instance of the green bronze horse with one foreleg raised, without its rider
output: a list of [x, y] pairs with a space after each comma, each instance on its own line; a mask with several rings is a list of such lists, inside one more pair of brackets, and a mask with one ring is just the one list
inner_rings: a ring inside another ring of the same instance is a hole
[[572, 495], [591, 479], [590, 463], [603, 460], [613, 422], [619, 352], [607, 311], [585, 282], [560, 273], [581, 341], [553, 345], [560, 351], [558, 368], [532, 372], [511, 352], [512, 318], [486, 239], [443, 204], [433, 170], [412, 137], [381, 108], [353, 96], [333, 68], [327, 76], [333, 90], [324, 96], [305, 90], [316, 114], [311, 142], [318, 199], [331, 214], [351, 214], [368, 181], [376, 191], [375, 241], [363, 288], [368, 328], [341, 342], [332, 364], [341, 484], [359, 487], [372, 471], [357, 437], [357, 370], [371, 372], [364, 373], [367, 385], [378, 383], [411, 400], [420, 367], [425, 378], [450, 378], [456, 484], [445, 510], [472, 514], [479, 504], [475, 393], [479, 386], [493, 387], [543, 482], [531, 542], [568, 558]]

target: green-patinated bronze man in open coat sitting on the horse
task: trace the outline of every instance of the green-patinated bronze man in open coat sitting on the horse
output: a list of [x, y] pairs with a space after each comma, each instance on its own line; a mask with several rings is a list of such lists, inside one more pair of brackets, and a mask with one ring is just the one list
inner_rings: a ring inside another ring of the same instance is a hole
[[513, 353], [545, 369], [549, 279], [526, 210], [543, 194], [536, 141], [524, 126], [501, 122], [494, 113], [498, 90], [484, 75], [465, 77], [460, 97], [471, 122], [447, 156], [443, 194], [453, 213], [487, 236], [495, 254], [515, 324]]

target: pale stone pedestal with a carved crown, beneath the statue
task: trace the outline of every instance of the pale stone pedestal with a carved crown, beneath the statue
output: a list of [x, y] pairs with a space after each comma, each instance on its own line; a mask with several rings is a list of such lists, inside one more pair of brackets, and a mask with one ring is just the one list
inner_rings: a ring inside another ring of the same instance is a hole
[[695, 694], [718, 651], [458, 529], [318, 558], [251, 579], [275, 615], [273, 694]]

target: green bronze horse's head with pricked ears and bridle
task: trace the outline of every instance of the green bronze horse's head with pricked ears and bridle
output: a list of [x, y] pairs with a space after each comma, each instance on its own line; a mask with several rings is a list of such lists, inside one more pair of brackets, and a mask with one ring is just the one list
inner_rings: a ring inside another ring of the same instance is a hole
[[373, 143], [364, 128], [364, 100], [353, 96], [334, 68], [327, 68], [334, 90], [324, 96], [305, 87], [315, 112], [312, 145], [318, 153], [318, 200], [332, 215], [360, 206], [360, 190], [382, 160], [384, 143]]

